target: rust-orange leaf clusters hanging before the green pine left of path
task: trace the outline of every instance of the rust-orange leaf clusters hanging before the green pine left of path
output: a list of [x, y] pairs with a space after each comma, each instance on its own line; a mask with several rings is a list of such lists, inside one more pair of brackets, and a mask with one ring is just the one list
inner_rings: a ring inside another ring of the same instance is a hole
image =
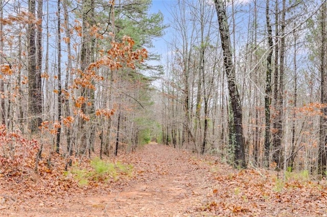
[[[82, 27], [78, 20], [75, 21], [76, 25], [74, 29], [77, 32], [82, 31]], [[97, 26], [92, 26], [90, 28], [90, 35], [99, 37], [98, 34], [99, 28]], [[109, 33], [112, 37], [114, 36], [112, 33]], [[146, 49], [136, 49], [133, 50], [133, 46], [135, 42], [128, 36], [124, 36], [122, 42], [111, 42], [111, 48], [105, 52], [104, 50], [100, 50], [100, 58], [99, 60], [90, 63], [84, 70], [76, 69], [75, 74], [76, 77], [74, 79], [74, 83], [69, 88], [71, 89], [90, 89], [96, 90], [95, 81], [104, 80], [104, 77], [97, 74], [98, 69], [101, 67], [108, 67], [110, 70], [118, 70], [123, 67], [128, 67], [131, 69], [135, 68], [135, 63], [141, 63], [148, 57], [148, 51]], [[73, 45], [75, 46], [75, 45]], [[77, 45], [76, 45], [77, 46]], [[65, 97], [68, 98], [69, 94], [65, 91]], [[82, 118], [84, 121], [89, 121], [90, 118], [88, 115], [84, 114], [82, 111], [82, 106], [91, 106], [91, 102], [88, 101], [87, 98], [83, 96], [79, 96], [77, 99], [73, 97], [73, 101], [77, 110], [74, 111], [74, 115]], [[98, 109], [96, 111], [96, 116], [102, 116], [106, 118], [110, 118], [114, 114], [114, 109]], [[63, 119], [63, 124], [69, 126], [73, 122], [73, 120]]]

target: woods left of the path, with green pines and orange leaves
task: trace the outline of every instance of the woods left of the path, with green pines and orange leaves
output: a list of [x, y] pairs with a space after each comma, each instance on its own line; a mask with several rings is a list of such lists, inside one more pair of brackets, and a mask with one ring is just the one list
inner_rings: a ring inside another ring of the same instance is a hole
[[[159, 67], [145, 59], [158, 58], [146, 48], [166, 26], [160, 12], [147, 13], [151, 1], [0, 5], [1, 122], [8, 133], [36, 139], [39, 157], [46, 149], [67, 159], [90, 156], [96, 142], [100, 156], [116, 155], [119, 146], [131, 151], [158, 133], [149, 113], [154, 78], [144, 74]], [[5, 159], [13, 143], [2, 144]]]

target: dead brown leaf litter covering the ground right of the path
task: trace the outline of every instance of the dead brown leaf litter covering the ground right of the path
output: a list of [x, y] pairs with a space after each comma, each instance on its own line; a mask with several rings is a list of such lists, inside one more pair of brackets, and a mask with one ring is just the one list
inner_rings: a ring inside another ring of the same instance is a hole
[[213, 175], [213, 200], [202, 210], [217, 215], [296, 216], [327, 211], [325, 182], [277, 179], [274, 172], [258, 169]]

